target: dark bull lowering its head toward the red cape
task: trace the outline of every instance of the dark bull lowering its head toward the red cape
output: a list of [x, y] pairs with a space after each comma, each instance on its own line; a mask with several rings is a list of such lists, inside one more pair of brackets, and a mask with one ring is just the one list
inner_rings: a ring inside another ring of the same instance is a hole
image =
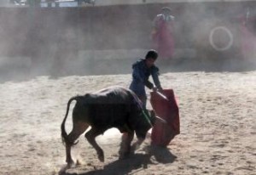
[[[67, 134], [65, 122], [73, 100], [77, 101], [73, 108], [73, 130]], [[125, 88], [105, 88], [96, 93], [87, 93], [69, 99], [66, 116], [61, 124], [61, 137], [66, 144], [67, 167], [73, 164], [71, 146], [77, 144], [75, 141], [88, 127], [91, 128], [85, 133], [85, 138], [96, 149], [98, 159], [104, 161], [104, 153], [96, 143], [96, 136], [111, 127], [118, 128], [120, 133], [124, 133], [119, 149], [119, 156], [123, 158], [143, 143], [154, 118], [154, 112], [148, 115], [148, 112], [143, 110], [137, 95]], [[134, 133], [137, 135], [137, 142], [131, 146]]]

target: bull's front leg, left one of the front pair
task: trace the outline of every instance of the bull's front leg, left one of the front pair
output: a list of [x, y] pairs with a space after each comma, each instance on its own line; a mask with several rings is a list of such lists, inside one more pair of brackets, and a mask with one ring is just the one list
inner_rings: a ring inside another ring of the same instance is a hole
[[134, 138], [134, 132], [123, 133], [119, 150], [119, 159], [124, 159], [131, 153], [131, 141]]

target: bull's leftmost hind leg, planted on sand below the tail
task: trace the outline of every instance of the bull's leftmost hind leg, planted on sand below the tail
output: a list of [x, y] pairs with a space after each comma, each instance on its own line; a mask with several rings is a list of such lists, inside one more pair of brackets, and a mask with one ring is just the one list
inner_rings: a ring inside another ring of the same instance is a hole
[[79, 136], [84, 133], [84, 131], [89, 127], [88, 124], [81, 121], [73, 121], [73, 130], [67, 135], [68, 143], [66, 143], [66, 162], [67, 167], [71, 167], [74, 161], [71, 156], [71, 146], [79, 138]]

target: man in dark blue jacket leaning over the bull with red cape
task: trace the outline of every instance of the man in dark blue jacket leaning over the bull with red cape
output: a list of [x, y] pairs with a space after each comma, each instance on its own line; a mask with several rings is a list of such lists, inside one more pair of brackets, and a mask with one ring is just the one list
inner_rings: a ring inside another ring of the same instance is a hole
[[[149, 50], [145, 59], [139, 59], [132, 65], [132, 82], [130, 89], [137, 94], [137, 97], [143, 102], [143, 108], [146, 109], [147, 95], [145, 87], [153, 91], [162, 90], [159, 80], [159, 68], [154, 65], [158, 54], [155, 50]], [[148, 81], [152, 76], [154, 84]], [[155, 85], [155, 86], [154, 86]]]

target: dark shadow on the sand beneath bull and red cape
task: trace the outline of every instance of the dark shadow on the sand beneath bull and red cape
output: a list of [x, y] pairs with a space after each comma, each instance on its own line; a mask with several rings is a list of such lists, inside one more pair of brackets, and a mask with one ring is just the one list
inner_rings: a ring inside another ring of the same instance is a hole
[[147, 154], [134, 154], [125, 160], [117, 160], [105, 165], [101, 170], [90, 172], [69, 173], [61, 172], [60, 175], [121, 175], [136, 174], [148, 168], [148, 165], [172, 163], [177, 156], [172, 155], [171, 151], [163, 147], [148, 146], [144, 148]]

